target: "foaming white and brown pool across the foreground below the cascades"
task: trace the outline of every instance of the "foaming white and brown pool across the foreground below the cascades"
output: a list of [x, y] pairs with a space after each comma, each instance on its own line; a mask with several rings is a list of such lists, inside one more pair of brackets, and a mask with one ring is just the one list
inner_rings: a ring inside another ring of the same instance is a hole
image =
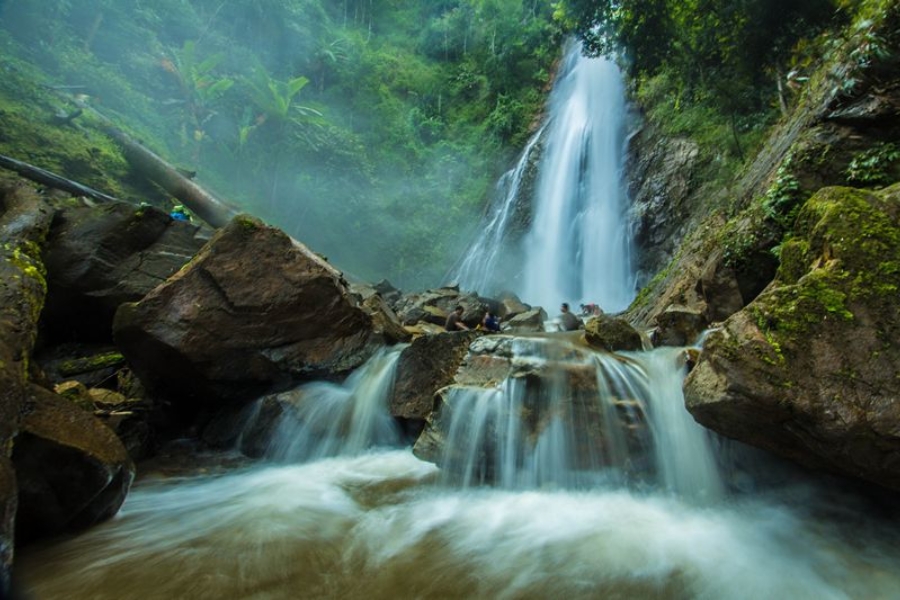
[[898, 526], [795, 486], [454, 490], [407, 450], [148, 477], [120, 514], [25, 549], [35, 599], [896, 598]]

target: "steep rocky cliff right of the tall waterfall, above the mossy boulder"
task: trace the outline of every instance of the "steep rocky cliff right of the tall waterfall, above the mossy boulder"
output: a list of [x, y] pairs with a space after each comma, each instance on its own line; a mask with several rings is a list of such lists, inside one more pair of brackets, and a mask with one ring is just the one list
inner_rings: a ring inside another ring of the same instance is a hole
[[[810, 70], [792, 112], [729, 185], [700, 178], [696, 146], [646, 124], [630, 144], [630, 190], [643, 288], [628, 311], [652, 327], [673, 304], [718, 322], [774, 278], [778, 249], [820, 188], [883, 187], [900, 179], [900, 35], [894, 8], [845, 34]], [[855, 54], [877, 38], [877, 55]], [[723, 141], [724, 143], [724, 141]]]

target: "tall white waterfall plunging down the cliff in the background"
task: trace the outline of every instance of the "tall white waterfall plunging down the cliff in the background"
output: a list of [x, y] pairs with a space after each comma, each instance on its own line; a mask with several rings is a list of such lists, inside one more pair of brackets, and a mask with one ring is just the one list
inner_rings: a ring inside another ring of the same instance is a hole
[[[570, 44], [547, 123], [505, 176], [502, 201], [456, 273], [464, 288], [510, 289], [548, 310], [562, 302], [596, 303], [607, 312], [628, 307], [635, 277], [623, 183], [626, 114], [616, 64], [585, 57], [580, 45]], [[509, 215], [526, 201], [522, 172], [538, 139], [543, 147], [531, 224], [516, 247], [510, 240], [516, 223]], [[516, 256], [518, 268], [498, 261], [502, 254]]]

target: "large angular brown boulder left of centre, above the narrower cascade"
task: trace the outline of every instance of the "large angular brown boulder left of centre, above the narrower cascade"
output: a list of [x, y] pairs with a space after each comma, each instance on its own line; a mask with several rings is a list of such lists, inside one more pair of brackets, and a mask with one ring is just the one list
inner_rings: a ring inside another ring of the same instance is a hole
[[378, 310], [359, 306], [304, 245], [239, 216], [166, 283], [120, 306], [113, 329], [150, 391], [196, 407], [350, 372], [392, 337]]

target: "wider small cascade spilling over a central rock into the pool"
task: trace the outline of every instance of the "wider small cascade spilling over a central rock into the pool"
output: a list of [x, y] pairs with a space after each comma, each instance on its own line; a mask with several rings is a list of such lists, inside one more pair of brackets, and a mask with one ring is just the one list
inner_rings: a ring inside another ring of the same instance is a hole
[[[479, 354], [481, 352], [481, 354]], [[447, 483], [588, 489], [640, 482], [696, 501], [722, 495], [707, 432], [684, 410], [680, 350], [596, 353], [560, 336], [473, 344], [496, 385], [463, 367], [436, 423]], [[486, 367], [485, 365], [492, 366]]]

